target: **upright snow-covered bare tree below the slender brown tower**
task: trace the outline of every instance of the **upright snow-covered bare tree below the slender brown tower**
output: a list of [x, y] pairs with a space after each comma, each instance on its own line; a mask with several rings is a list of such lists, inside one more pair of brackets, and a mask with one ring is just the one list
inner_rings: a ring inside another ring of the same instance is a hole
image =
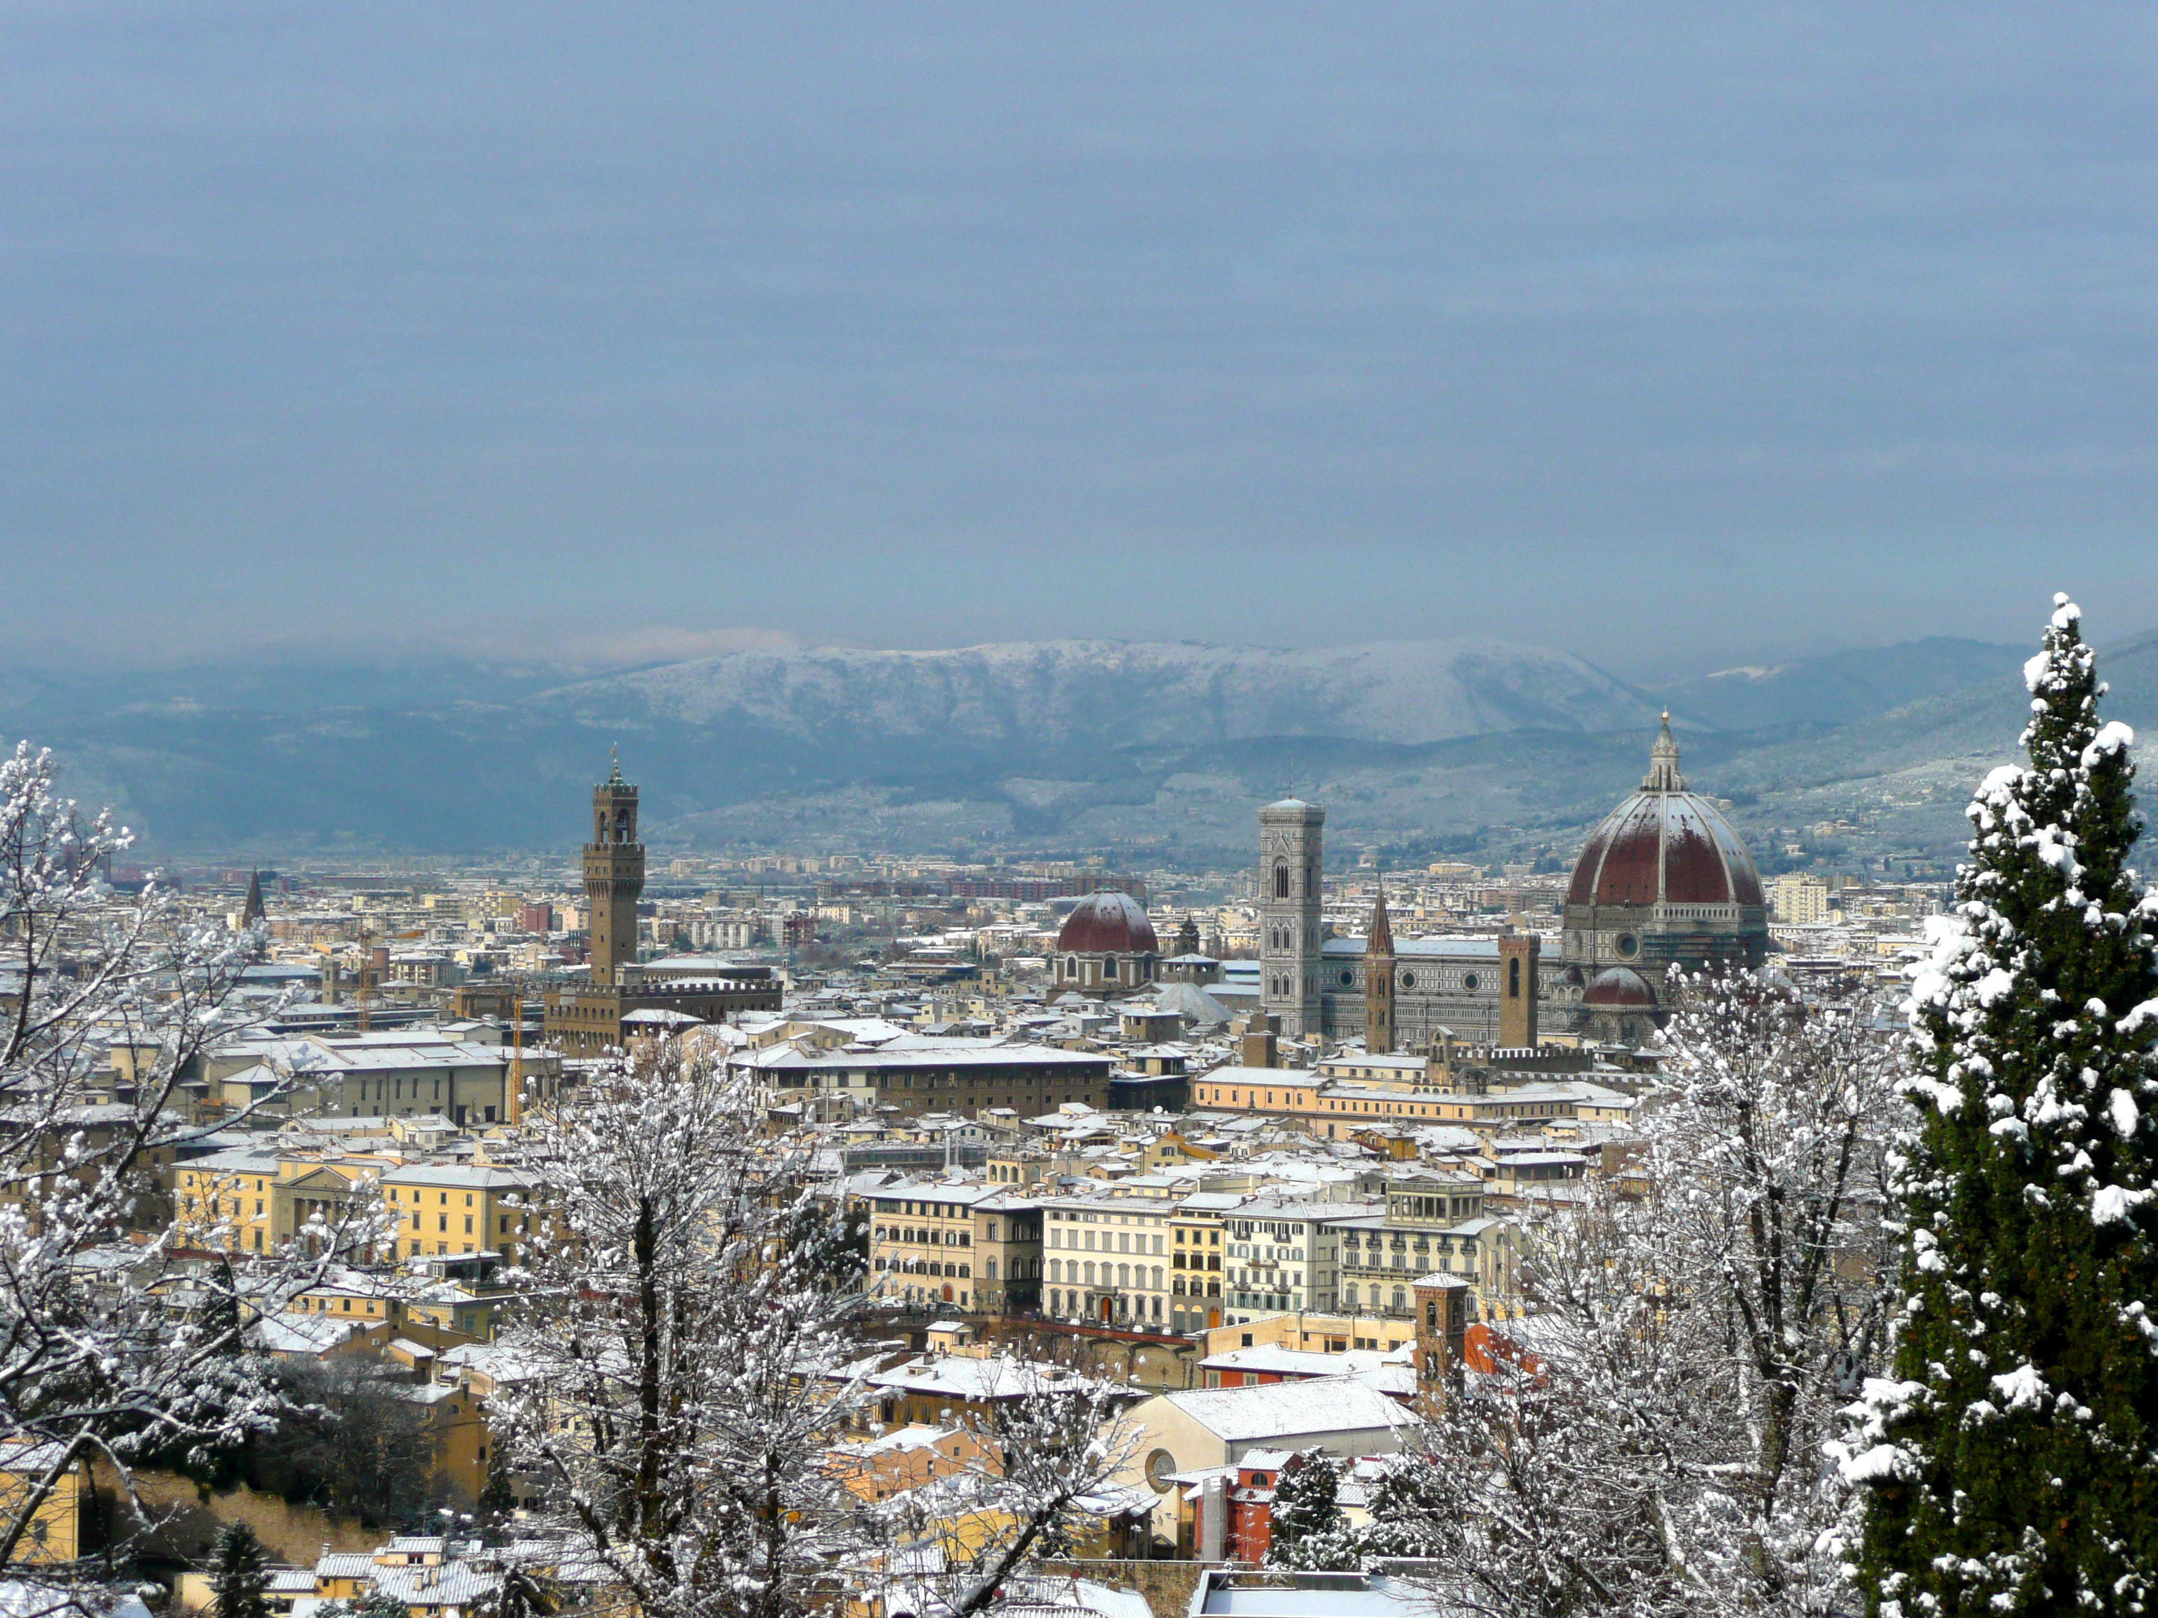
[[857, 1396], [844, 1223], [710, 1055], [647, 1048], [527, 1120], [501, 1461], [647, 1618], [798, 1612], [852, 1532], [824, 1465]]

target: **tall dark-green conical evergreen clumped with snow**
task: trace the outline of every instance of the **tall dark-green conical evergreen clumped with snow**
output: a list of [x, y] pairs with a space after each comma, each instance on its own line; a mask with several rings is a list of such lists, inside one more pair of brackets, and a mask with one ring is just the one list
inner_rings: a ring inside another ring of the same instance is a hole
[[2078, 611], [2024, 667], [2029, 766], [1979, 787], [1912, 999], [1906, 1305], [1865, 1387], [1875, 1612], [2145, 1612], [2158, 1594], [2158, 895], [2128, 865], [2134, 736]]

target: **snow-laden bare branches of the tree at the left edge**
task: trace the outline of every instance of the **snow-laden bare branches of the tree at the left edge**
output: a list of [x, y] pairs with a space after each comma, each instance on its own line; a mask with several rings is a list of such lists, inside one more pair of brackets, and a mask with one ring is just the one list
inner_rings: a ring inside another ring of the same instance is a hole
[[[363, 1199], [313, 1258], [235, 1279], [149, 1228], [155, 1163], [235, 1122], [190, 1120], [181, 1081], [248, 1020], [231, 992], [261, 934], [199, 923], [155, 885], [117, 895], [101, 867], [127, 831], [54, 781], [50, 753], [0, 757], [0, 1445], [28, 1476], [0, 1508], [0, 1562], [86, 1458], [125, 1482], [145, 1456], [201, 1458], [272, 1422], [240, 1294], [274, 1310], [378, 1236]], [[181, 1281], [201, 1303], [175, 1314]]]

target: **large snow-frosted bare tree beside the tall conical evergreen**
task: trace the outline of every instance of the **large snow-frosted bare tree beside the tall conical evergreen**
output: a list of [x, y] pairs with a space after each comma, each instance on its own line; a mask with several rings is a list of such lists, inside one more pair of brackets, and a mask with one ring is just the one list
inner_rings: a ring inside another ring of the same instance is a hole
[[1534, 1312], [1388, 1495], [1452, 1603], [1504, 1618], [1826, 1612], [1824, 1456], [1890, 1301], [1895, 1051], [1862, 995], [1692, 982], [1642, 1156], [1536, 1221]]

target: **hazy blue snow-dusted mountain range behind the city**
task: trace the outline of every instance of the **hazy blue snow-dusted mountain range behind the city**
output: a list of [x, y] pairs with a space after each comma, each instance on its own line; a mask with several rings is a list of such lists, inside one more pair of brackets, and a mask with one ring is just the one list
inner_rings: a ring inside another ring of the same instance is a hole
[[[1942, 690], [1957, 671], [1983, 682]], [[438, 660], [0, 682], [0, 725], [153, 850], [570, 848], [609, 744], [660, 841], [1241, 852], [1290, 770], [1338, 846], [1543, 846], [1640, 779], [1655, 708], [1750, 837], [1849, 820], [1951, 850], [2022, 718], [2020, 656], [1923, 641], [1651, 697], [1495, 641], [1267, 652], [1053, 641], [742, 652], [563, 682]], [[2158, 636], [2104, 656], [2108, 712], [2158, 723]], [[1711, 729], [1713, 727], [1713, 729]], [[1137, 854], [1133, 854], [1137, 856]]]

